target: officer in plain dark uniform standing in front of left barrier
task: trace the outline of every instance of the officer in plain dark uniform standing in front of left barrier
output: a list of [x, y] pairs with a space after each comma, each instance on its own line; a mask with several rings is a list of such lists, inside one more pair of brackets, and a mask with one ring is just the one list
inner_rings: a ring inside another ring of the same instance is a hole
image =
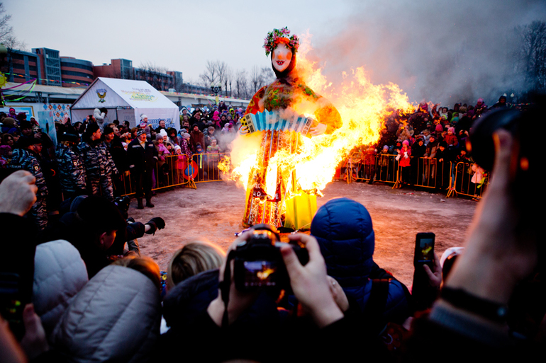
[[157, 149], [152, 142], [146, 140], [144, 129], [139, 129], [137, 138], [127, 146], [127, 156], [130, 175], [136, 185], [138, 209], [144, 209], [143, 197], [146, 198], [146, 207], [153, 208], [152, 173], [157, 161]]

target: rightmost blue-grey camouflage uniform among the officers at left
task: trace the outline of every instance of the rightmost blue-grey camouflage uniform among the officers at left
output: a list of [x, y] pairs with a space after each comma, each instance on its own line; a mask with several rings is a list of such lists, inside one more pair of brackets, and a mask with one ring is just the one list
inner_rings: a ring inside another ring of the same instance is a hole
[[80, 142], [78, 151], [84, 160], [87, 189], [92, 195], [103, 195], [113, 201], [112, 173], [118, 173], [104, 142]]

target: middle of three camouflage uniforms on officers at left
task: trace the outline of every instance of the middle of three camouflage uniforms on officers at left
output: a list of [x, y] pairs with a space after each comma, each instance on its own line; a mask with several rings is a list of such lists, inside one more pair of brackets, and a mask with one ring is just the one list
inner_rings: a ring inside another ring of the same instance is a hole
[[55, 156], [59, 164], [61, 190], [65, 199], [77, 192], [85, 191], [87, 183], [82, 158], [65, 144], [57, 145]]

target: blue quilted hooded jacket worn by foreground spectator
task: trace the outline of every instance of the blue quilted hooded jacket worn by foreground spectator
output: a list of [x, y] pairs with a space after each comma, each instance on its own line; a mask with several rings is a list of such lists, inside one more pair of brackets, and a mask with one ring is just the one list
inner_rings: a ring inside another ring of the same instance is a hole
[[[311, 234], [321, 246], [328, 275], [364, 311], [372, 292], [372, 279], [378, 278], [374, 272], [380, 270], [373, 260], [375, 235], [367, 209], [348, 198], [330, 200], [318, 209], [311, 223]], [[402, 323], [409, 315], [408, 306], [406, 287], [396, 279], [391, 280], [384, 321]]]

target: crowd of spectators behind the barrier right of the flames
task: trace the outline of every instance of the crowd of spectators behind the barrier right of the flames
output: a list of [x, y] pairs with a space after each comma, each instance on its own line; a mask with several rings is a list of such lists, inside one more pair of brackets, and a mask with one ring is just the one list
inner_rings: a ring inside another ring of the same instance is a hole
[[[479, 98], [476, 105], [455, 103], [448, 108], [423, 101], [413, 113], [398, 110], [386, 119], [376, 144], [352, 151], [345, 172], [370, 184], [381, 180], [398, 182], [401, 187], [418, 185], [438, 191], [455, 188], [455, 175], [459, 173], [467, 190], [476, 192], [486, 171], [474, 163], [467, 151], [470, 129], [487, 111], [508, 108], [520, 106], [506, 103], [506, 96], [501, 96], [491, 107]], [[457, 163], [464, 166], [456, 168]], [[474, 188], [469, 188], [469, 183]]]

